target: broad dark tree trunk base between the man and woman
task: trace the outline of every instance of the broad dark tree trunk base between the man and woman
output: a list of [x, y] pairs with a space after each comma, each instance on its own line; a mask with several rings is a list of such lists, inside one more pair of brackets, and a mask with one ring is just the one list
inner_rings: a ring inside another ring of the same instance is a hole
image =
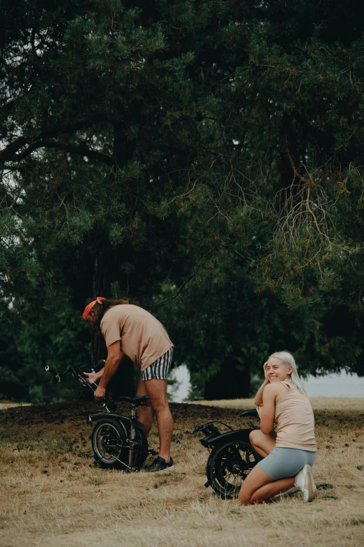
[[204, 398], [207, 400], [248, 398], [250, 392], [250, 365], [240, 370], [240, 363], [229, 360], [220, 372], [207, 381]]

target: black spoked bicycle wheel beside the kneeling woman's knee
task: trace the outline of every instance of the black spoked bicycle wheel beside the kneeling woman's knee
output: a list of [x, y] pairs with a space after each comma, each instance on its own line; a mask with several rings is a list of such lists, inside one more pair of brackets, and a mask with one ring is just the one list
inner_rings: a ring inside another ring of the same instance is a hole
[[243, 441], [213, 448], [206, 464], [208, 482], [222, 499], [238, 497], [243, 480], [259, 460], [254, 448]]

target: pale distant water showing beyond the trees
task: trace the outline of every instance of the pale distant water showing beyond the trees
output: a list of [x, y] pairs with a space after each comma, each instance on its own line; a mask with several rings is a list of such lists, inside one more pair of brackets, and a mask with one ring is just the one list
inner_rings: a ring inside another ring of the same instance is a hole
[[[179, 388], [173, 393], [172, 400], [181, 402], [190, 391], [190, 373], [185, 365], [174, 369], [173, 377], [179, 381]], [[363, 397], [364, 378], [357, 374], [328, 374], [315, 378], [309, 376], [303, 382], [309, 397]]]

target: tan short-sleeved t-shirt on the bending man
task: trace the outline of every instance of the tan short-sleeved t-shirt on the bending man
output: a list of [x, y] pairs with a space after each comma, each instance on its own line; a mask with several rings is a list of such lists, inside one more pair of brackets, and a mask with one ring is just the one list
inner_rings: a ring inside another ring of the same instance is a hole
[[121, 351], [137, 368], [146, 369], [173, 347], [162, 323], [142, 307], [119, 304], [107, 310], [100, 323], [107, 347], [120, 340]]

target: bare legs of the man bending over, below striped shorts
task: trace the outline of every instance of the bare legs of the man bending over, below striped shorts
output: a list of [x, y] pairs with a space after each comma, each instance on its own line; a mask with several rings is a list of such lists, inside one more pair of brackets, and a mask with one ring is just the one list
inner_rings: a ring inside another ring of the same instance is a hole
[[149, 434], [153, 423], [152, 409], [156, 412], [159, 434], [159, 455], [169, 462], [174, 428], [173, 418], [167, 401], [167, 380], [142, 380], [139, 378], [137, 397], [149, 395], [151, 407], [140, 407], [138, 419], [144, 423], [144, 433]]

